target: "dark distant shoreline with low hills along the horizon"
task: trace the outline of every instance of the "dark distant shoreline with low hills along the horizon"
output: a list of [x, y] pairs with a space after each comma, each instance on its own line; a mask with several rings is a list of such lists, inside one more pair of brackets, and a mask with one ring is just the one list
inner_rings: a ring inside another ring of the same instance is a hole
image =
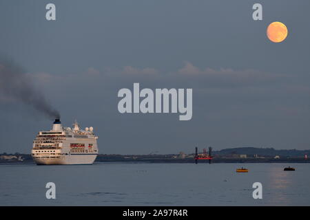
[[[200, 151], [199, 151], [200, 150]], [[203, 153], [201, 152], [203, 151]], [[207, 149], [198, 149], [198, 154], [206, 154]], [[155, 151], [154, 153], [158, 153]], [[99, 154], [95, 162], [131, 162], [131, 163], [178, 163], [192, 164], [195, 162], [195, 153], [170, 153], [145, 155], [121, 155], [121, 154]], [[274, 149], [274, 148], [256, 148], [256, 147], [237, 147], [225, 148], [220, 151], [212, 151], [214, 157], [212, 163], [310, 163], [307, 155], [310, 155], [310, 149]], [[208, 160], [198, 160], [198, 163], [208, 163]], [[12, 163], [32, 163], [32, 156], [27, 153], [0, 153], [0, 164]]]

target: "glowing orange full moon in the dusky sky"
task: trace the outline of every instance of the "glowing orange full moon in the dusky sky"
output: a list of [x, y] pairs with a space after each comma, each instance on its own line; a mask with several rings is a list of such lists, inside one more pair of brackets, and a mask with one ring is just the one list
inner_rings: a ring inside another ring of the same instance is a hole
[[268, 26], [267, 36], [274, 43], [282, 42], [287, 38], [287, 26], [284, 23], [275, 21]]

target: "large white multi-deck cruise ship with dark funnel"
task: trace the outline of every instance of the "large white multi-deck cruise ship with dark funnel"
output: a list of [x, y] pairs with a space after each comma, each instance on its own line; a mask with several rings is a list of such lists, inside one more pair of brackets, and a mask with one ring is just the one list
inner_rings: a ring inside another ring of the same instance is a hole
[[72, 128], [56, 119], [50, 131], [39, 131], [33, 141], [32, 158], [38, 165], [92, 164], [99, 151], [92, 126], [82, 130], [75, 121]]

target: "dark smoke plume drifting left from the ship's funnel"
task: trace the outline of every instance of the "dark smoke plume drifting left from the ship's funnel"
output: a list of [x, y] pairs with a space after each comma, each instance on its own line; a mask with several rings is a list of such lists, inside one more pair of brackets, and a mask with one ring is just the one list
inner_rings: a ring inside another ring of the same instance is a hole
[[28, 104], [48, 118], [60, 118], [59, 112], [45, 99], [42, 92], [34, 87], [24, 69], [4, 58], [0, 58], [0, 95]]

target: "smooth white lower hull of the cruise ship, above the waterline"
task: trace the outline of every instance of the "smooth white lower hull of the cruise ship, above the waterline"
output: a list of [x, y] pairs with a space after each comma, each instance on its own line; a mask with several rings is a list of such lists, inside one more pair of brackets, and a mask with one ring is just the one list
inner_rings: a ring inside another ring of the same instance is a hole
[[93, 164], [96, 159], [96, 154], [76, 154], [64, 155], [61, 158], [33, 158], [37, 165], [73, 165], [73, 164]]

